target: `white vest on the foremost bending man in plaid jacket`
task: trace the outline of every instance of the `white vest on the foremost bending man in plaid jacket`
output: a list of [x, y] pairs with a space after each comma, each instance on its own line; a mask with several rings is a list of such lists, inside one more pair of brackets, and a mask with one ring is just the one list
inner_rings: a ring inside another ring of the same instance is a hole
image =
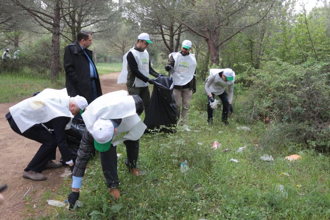
[[[90, 133], [92, 133], [95, 121], [99, 118], [122, 119], [114, 133], [114, 146], [125, 140], [138, 140], [147, 128], [136, 113], [133, 97], [128, 96], [125, 90], [110, 92], [98, 97], [82, 113], [82, 119]], [[116, 140], [116, 137], [122, 133], [127, 134]]]

